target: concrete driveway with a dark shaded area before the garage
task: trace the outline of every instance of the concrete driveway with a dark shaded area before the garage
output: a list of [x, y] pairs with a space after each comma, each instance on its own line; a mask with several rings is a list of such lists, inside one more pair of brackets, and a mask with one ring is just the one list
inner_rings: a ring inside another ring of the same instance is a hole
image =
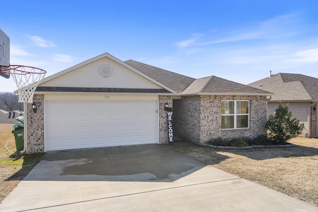
[[[178, 145], [178, 144], [176, 144]], [[47, 153], [0, 211], [318, 212], [166, 145]]]

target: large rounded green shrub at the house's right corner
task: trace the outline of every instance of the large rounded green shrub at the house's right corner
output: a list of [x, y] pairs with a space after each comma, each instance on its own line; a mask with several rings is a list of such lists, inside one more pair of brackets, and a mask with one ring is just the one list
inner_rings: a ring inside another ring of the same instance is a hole
[[268, 139], [278, 144], [286, 144], [288, 140], [300, 135], [304, 124], [300, 124], [296, 118], [291, 120], [291, 117], [292, 112], [288, 110], [288, 104], [281, 106], [279, 103], [274, 115], [269, 115], [265, 124]]

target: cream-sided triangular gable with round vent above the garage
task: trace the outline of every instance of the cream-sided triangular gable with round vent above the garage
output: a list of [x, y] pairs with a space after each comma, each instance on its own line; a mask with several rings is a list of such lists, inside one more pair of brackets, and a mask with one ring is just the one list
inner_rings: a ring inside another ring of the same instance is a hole
[[65, 89], [165, 89], [170, 93], [175, 93], [170, 88], [162, 85], [158, 81], [150, 78], [139, 70], [136, 70], [108, 53], [101, 54], [45, 78], [38, 86], [37, 91], [46, 91], [47, 89], [44, 89], [43, 87], [59, 87]]

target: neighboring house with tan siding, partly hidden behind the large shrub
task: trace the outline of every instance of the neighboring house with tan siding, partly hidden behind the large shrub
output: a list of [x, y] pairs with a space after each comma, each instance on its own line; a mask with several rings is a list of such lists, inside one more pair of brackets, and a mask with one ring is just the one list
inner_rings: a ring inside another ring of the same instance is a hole
[[282, 106], [288, 104], [292, 118], [304, 123], [302, 135], [318, 137], [318, 78], [303, 74], [278, 73], [248, 85], [273, 93], [267, 102], [267, 116], [275, 112], [279, 102]]

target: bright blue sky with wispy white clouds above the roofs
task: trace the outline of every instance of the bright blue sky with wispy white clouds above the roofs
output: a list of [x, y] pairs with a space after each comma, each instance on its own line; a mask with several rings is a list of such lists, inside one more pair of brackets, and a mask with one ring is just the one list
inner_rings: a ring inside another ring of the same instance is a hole
[[[47, 75], [102, 53], [186, 76], [248, 84], [318, 78], [317, 0], [0, 0], [10, 63]], [[5, 14], [3, 14], [5, 11]], [[0, 77], [0, 91], [14, 91]]]

